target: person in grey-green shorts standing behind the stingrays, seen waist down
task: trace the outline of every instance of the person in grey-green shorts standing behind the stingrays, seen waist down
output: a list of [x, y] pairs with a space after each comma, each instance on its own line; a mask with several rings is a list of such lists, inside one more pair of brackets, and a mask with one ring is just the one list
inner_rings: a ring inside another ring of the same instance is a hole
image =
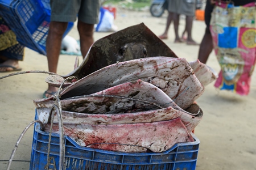
[[[80, 48], [84, 58], [93, 44], [94, 24], [98, 23], [100, 0], [51, 0], [51, 23], [46, 41], [46, 53], [49, 72], [57, 73], [57, 63], [61, 49], [61, 40], [68, 22], [75, 22], [80, 36]], [[56, 87], [48, 85], [43, 97], [55, 94]]]

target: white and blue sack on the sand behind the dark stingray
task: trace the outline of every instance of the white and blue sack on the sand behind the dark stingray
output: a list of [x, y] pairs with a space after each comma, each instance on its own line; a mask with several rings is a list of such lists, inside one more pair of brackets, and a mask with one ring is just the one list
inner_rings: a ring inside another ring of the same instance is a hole
[[100, 8], [100, 22], [94, 25], [96, 32], [113, 32], [117, 31], [117, 26], [114, 25], [114, 15], [104, 8]]

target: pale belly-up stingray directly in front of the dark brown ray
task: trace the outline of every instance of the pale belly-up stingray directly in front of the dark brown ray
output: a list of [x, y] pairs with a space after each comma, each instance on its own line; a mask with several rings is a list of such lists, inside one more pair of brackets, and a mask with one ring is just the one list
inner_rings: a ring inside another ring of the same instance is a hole
[[204, 92], [203, 85], [185, 58], [148, 57], [115, 63], [97, 70], [64, 88], [61, 99], [94, 94], [137, 79], [154, 84], [182, 109], [188, 108]]

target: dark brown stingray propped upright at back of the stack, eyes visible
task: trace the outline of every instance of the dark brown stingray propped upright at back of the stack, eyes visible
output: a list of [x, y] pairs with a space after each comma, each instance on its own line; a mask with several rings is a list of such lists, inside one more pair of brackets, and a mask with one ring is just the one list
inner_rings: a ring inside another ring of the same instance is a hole
[[177, 58], [158, 36], [141, 23], [95, 41], [81, 65], [63, 77], [73, 75], [81, 79], [116, 62], [155, 56]]

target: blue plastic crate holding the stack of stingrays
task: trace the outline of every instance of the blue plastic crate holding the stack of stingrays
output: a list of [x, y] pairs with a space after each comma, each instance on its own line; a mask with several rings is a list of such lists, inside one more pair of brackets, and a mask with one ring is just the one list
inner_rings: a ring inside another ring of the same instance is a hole
[[[195, 142], [177, 143], [162, 153], [126, 153], [98, 150], [77, 145], [69, 137], [65, 138], [66, 169], [196, 169], [199, 139], [192, 134]], [[49, 133], [35, 125], [32, 142], [30, 169], [44, 169], [47, 164]], [[52, 134], [51, 163], [59, 167], [59, 134]], [[53, 161], [54, 160], [54, 161]], [[54, 169], [50, 165], [49, 169]]]

